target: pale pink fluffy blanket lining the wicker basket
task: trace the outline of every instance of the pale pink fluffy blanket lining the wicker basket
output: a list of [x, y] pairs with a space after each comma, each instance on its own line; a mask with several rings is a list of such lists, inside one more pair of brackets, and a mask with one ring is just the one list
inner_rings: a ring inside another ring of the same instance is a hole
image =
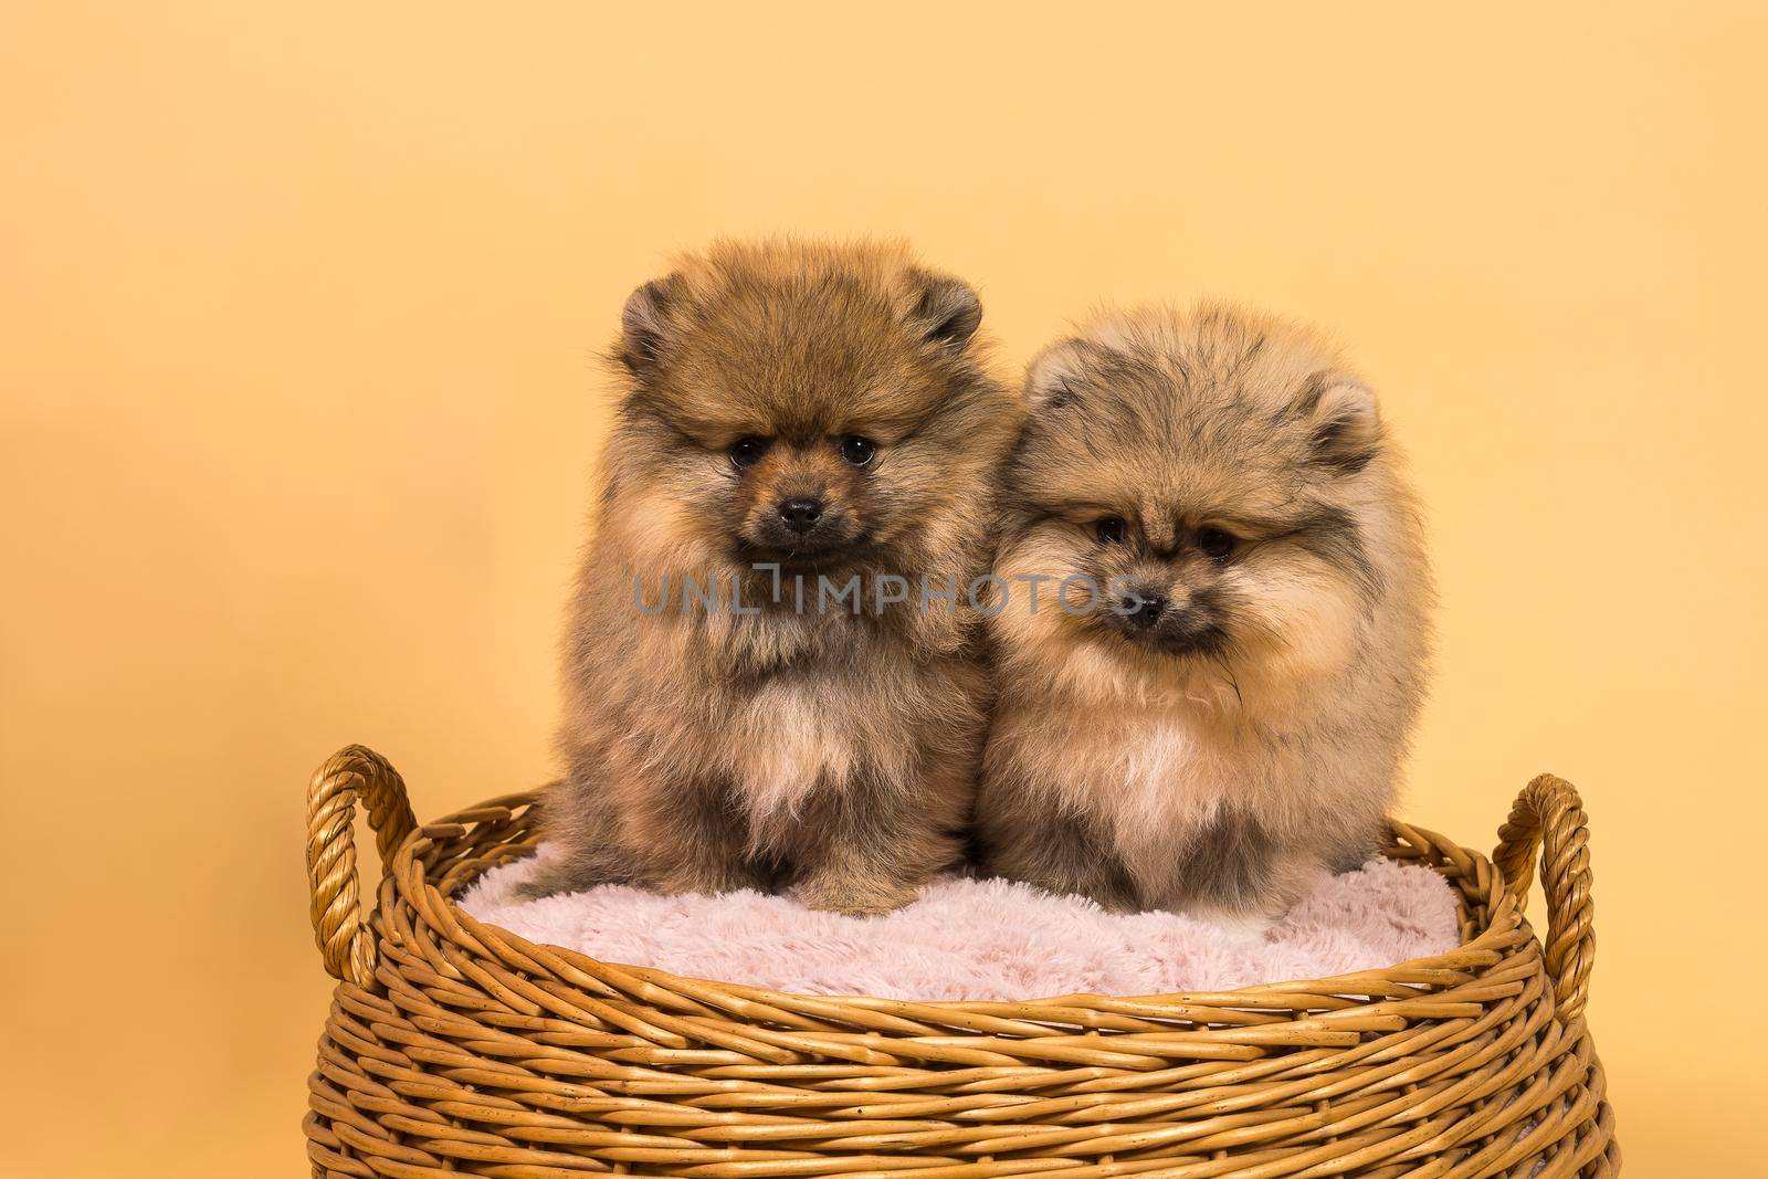
[[750, 891], [658, 896], [605, 886], [516, 900], [532, 868], [525, 859], [492, 870], [461, 909], [601, 962], [808, 995], [1010, 1002], [1213, 992], [1390, 967], [1460, 940], [1448, 882], [1386, 859], [1326, 880], [1262, 937], [960, 877], [934, 880], [888, 917], [843, 917]]

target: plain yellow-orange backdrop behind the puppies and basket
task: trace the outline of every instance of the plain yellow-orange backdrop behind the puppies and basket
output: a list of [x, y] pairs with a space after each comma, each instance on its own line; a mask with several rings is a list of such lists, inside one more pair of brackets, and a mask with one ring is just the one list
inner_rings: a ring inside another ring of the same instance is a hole
[[592, 352], [771, 230], [912, 237], [1004, 369], [1335, 329], [1443, 585], [1404, 813], [1577, 781], [1630, 1174], [1759, 1165], [1754, 5], [652, 7], [0, 9], [0, 1170], [306, 1174], [306, 776], [548, 772]]

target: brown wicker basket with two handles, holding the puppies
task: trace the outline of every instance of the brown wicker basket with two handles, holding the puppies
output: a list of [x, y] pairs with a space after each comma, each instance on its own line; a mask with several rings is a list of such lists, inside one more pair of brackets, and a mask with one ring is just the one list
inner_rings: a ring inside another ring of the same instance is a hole
[[[364, 921], [352, 817], [384, 875]], [[1584, 811], [1529, 783], [1492, 861], [1393, 824], [1457, 889], [1462, 947], [1227, 993], [1027, 1002], [781, 995], [610, 965], [449, 900], [536, 843], [532, 794], [417, 825], [352, 746], [308, 795], [339, 979], [309, 1082], [315, 1175], [1614, 1175], [1584, 1027]], [[1545, 947], [1522, 912], [1536, 847]], [[1494, 864], [1496, 861], [1496, 864]]]

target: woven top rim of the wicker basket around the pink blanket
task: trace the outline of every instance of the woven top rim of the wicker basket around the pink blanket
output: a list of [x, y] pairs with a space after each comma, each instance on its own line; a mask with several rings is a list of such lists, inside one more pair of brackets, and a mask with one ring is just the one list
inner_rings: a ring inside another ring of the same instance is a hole
[[[1506, 887], [1503, 870], [1497, 868], [1485, 854], [1455, 843], [1446, 836], [1430, 831], [1429, 827], [1416, 827], [1397, 818], [1388, 818], [1390, 834], [1393, 840], [1381, 848], [1381, 854], [1388, 859], [1398, 859], [1407, 863], [1423, 861], [1432, 871], [1450, 879], [1450, 886], [1457, 891], [1457, 905], [1462, 914], [1462, 926], [1473, 919], [1469, 903], [1469, 887], [1483, 900], [1485, 921], [1478, 933], [1464, 940], [1455, 949], [1444, 951], [1441, 955], [1427, 955], [1420, 958], [1407, 958], [1386, 967], [1376, 967], [1370, 970], [1358, 970], [1351, 974], [1335, 974], [1314, 979], [1273, 979], [1268, 983], [1255, 983], [1248, 986], [1239, 986], [1234, 990], [1222, 992], [1167, 992], [1153, 995], [1101, 995], [1075, 992], [1066, 995], [1043, 995], [1031, 999], [1015, 1000], [978, 1000], [978, 999], [882, 999], [875, 995], [817, 995], [806, 992], [781, 992], [766, 986], [753, 986], [750, 983], [739, 983], [732, 979], [713, 979], [691, 974], [675, 974], [661, 967], [645, 967], [636, 963], [610, 962], [603, 958], [594, 958], [583, 951], [571, 949], [568, 946], [553, 946], [550, 942], [532, 942], [520, 933], [506, 930], [504, 926], [479, 921], [467, 910], [463, 910], [454, 898], [463, 887], [477, 880], [492, 868], [516, 863], [527, 856], [507, 856], [497, 863], [486, 864], [483, 870], [453, 884], [449, 893], [444, 893], [430, 880], [430, 875], [423, 870], [424, 864], [419, 861], [419, 854], [426, 845], [440, 836], [461, 834], [469, 824], [481, 822], [490, 817], [490, 811], [504, 810], [511, 817], [534, 808], [541, 799], [541, 790], [520, 790], [514, 794], [497, 795], [486, 799], [476, 806], [453, 811], [438, 820], [419, 824], [394, 850], [387, 864], [387, 880], [392, 887], [405, 898], [407, 903], [414, 905], [426, 914], [446, 914], [447, 923], [456, 926], [456, 930], [465, 930], [470, 933], [470, 940], [460, 939], [453, 930], [438, 923], [430, 923], [430, 926], [438, 933], [447, 933], [461, 949], [469, 953], [483, 953], [484, 942], [497, 940], [506, 944], [509, 949], [516, 951], [523, 958], [557, 958], [562, 963], [583, 972], [583, 974], [606, 974], [617, 972], [629, 976], [635, 983], [661, 986], [677, 993], [698, 993], [707, 988], [739, 995], [750, 1002], [760, 1002], [773, 1006], [774, 1000], [783, 1000], [789, 1006], [803, 1004], [826, 1004], [833, 1008], [857, 1008], [870, 1013], [893, 1011], [893, 1009], [926, 1009], [926, 1011], [946, 1011], [946, 1013], [999, 1013], [1004, 1008], [1063, 1008], [1063, 1009], [1107, 1009], [1107, 1008], [1261, 1008], [1268, 1006], [1271, 999], [1292, 997], [1292, 995], [1337, 995], [1349, 999], [1351, 1004], [1358, 1004], [1358, 999], [1351, 997], [1368, 997], [1377, 999], [1400, 999], [1400, 997], [1418, 997], [1420, 993], [1430, 993], [1443, 990], [1459, 983], [1469, 983], [1478, 977], [1478, 974], [1492, 965], [1503, 962], [1506, 956], [1517, 953], [1519, 946], [1528, 947], [1535, 944], [1533, 930], [1529, 928], [1528, 916], [1522, 905]], [[532, 854], [534, 845], [539, 840], [523, 840], [518, 843], [504, 843], [507, 848], [527, 848]], [[1413, 848], [1413, 854], [1406, 854]], [[1436, 852], [1439, 859], [1432, 859], [1430, 854]], [[412, 894], [412, 880], [419, 882], [421, 894]], [[428, 903], [419, 903], [419, 900]], [[385, 937], [384, 924], [380, 923], [380, 914], [377, 914], [377, 932], [375, 937]], [[486, 932], [495, 932], [486, 935]], [[1519, 939], [1519, 932], [1522, 937]], [[1261, 1002], [1262, 1000], [1262, 1002]], [[1284, 1002], [1282, 1008], [1292, 1009], [1292, 1004]]]

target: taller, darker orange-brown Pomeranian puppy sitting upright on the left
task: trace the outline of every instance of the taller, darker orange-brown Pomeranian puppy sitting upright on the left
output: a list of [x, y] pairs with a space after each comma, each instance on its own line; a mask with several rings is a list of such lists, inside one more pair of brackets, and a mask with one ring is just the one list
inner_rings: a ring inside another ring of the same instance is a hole
[[880, 914], [960, 856], [1017, 399], [898, 246], [718, 244], [626, 304], [530, 894], [796, 887]]

